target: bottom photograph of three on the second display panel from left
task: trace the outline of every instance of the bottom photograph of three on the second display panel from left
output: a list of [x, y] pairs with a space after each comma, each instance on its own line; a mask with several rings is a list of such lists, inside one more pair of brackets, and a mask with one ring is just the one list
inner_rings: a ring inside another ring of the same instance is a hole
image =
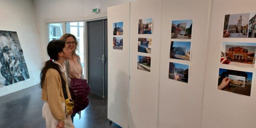
[[138, 55], [137, 69], [150, 72], [151, 57]]

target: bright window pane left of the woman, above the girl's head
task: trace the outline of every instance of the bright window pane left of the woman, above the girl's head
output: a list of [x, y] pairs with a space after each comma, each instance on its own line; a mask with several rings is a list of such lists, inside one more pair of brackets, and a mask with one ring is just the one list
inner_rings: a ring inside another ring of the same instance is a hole
[[49, 23], [48, 24], [48, 42], [57, 40], [63, 35], [62, 23]]

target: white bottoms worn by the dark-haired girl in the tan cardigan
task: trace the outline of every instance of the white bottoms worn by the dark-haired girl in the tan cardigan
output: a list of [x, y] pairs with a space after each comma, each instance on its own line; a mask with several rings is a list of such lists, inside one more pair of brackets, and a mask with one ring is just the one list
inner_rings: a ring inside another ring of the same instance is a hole
[[[65, 113], [65, 103], [64, 102], [62, 103], [62, 107], [64, 110], [63, 112]], [[44, 102], [44, 105], [42, 108], [42, 116], [45, 119], [46, 128], [56, 128], [56, 126], [58, 125], [58, 120], [52, 116], [48, 102]], [[65, 125], [64, 128], [75, 128], [70, 116], [65, 118], [64, 125]]]

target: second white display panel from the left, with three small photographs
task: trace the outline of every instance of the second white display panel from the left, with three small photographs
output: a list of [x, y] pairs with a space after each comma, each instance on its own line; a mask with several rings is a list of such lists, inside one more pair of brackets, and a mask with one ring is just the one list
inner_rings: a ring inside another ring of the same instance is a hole
[[[141, 20], [144, 21], [145, 24], [143, 25], [143, 27], [145, 27], [145, 29], [143, 29], [144, 32], [141, 33], [146, 34], [139, 34], [139, 20], [151, 18], [152, 24], [149, 20]], [[157, 128], [160, 34], [161, 1], [138, 0], [132, 2], [129, 128]], [[152, 39], [151, 53], [138, 52], [138, 38]], [[150, 72], [137, 69], [138, 55], [146, 56], [148, 59], [151, 57]]]

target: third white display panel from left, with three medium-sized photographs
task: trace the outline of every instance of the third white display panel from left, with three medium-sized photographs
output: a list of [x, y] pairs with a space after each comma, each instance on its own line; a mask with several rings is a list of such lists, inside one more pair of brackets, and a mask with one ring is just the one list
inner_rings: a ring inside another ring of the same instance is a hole
[[[209, 0], [162, 0], [158, 128], [201, 128], [208, 11]], [[191, 39], [171, 38], [172, 21], [190, 19]], [[171, 41], [191, 42], [189, 61], [170, 58]], [[188, 83], [169, 79], [169, 62], [189, 65]]]

